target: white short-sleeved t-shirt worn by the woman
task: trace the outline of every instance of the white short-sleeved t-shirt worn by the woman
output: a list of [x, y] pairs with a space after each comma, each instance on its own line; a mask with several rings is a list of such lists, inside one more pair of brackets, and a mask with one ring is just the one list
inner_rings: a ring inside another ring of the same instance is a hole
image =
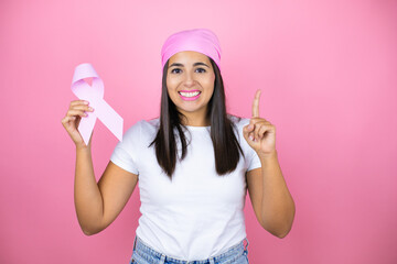
[[[172, 182], [157, 162], [154, 144], [148, 147], [159, 118], [138, 121], [115, 147], [110, 161], [139, 175], [142, 216], [136, 232], [155, 251], [179, 260], [205, 260], [246, 238], [245, 174], [261, 164], [243, 136], [249, 119], [229, 118], [238, 130], [235, 134], [245, 158], [240, 154], [236, 169], [224, 176], [215, 169], [211, 127], [186, 127], [187, 154], [181, 162], [176, 158]], [[176, 129], [175, 134], [181, 150]]]

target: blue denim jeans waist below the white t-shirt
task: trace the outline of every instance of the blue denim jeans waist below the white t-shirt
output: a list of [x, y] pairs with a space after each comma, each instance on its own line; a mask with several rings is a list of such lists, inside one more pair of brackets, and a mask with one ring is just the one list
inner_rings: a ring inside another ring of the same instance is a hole
[[[247, 241], [244, 248], [244, 240]], [[248, 239], [244, 239], [236, 245], [230, 246], [226, 252], [200, 261], [183, 261], [172, 258], [154, 251], [136, 235], [133, 252], [129, 264], [249, 264], [248, 262]]]

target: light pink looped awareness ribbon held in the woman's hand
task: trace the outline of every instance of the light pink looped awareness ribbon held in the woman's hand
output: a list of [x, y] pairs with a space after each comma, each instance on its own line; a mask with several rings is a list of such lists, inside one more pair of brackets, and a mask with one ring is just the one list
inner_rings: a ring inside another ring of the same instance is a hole
[[[84, 78], [93, 78], [89, 86]], [[88, 145], [96, 119], [98, 118], [119, 141], [122, 141], [122, 118], [104, 100], [104, 82], [95, 72], [93, 65], [86, 63], [77, 65], [73, 75], [72, 91], [78, 99], [86, 100], [94, 108], [82, 118], [78, 131]]]

